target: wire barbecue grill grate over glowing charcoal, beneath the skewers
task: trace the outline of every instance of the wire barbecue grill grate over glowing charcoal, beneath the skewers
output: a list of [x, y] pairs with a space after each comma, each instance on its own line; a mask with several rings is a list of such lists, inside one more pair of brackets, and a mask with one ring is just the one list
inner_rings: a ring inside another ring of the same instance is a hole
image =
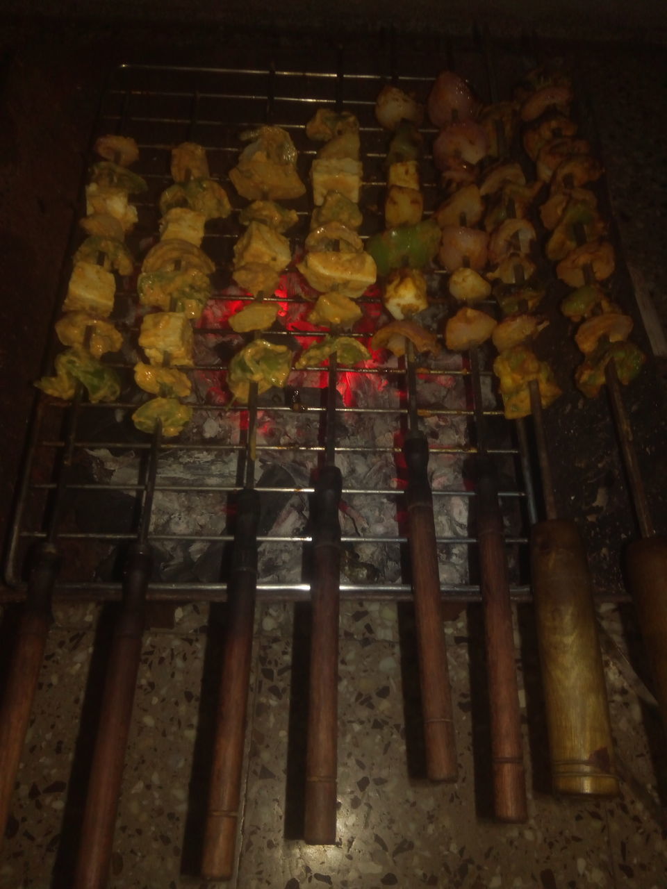
[[[313, 66], [305, 72], [279, 65], [119, 68], [101, 97], [93, 135], [124, 132], [140, 144], [137, 172], [149, 180], [150, 191], [140, 204], [140, 226], [133, 234], [135, 255], [145, 252], [144, 244], [157, 231], [157, 196], [168, 184], [165, 171], [174, 143], [191, 139], [204, 144], [213, 175], [223, 178], [237, 155], [238, 132], [261, 123], [269, 105], [272, 120], [285, 126], [300, 148], [300, 172], [305, 178], [314, 152], [303, 138], [303, 124], [318, 105], [333, 103], [337, 91], [342, 93], [344, 107], [357, 114], [362, 125], [366, 180], [362, 204], [366, 229], [362, 231], [379, 228], [374, 207], [384, 188], [386, 146], [384, 134], [374, 124], [373, 107], [396, 62], [389, 43], [382, 42], [373, 69], [365, 67], [365, 60], [349, 58], [348, 53], [339, 61], [335, 68]], [[434, 61], [432, 72], [414, 73], [411, 61], [401, 60], [398, 66], [400, 84], [423, 94], [440, 65]], [[482, 44], [473, 41], [457, 48], [452, 67], [484, 92], [489, 66], [502, 72], [496, 86], [506, 93], [525, 69], [525, 60], [497, 47], [490, 56], [488, 48], [484, 52]], [[498, 77], [497, 73], [492, 76]], [[427, 208], [432, 209], [437, 201], [432, 172], [424, 177], [423, 188]], [[305, 217], [308, 205], [299, 209]], [[122, 590], [119, 560], [126, 546], [137, 539], [137, 517], [142, 504], [145, 509], [147, 497], [152, 498], [147, 541], [157, 554], [149, 600], [202, 603], [226, 599], [225, 547], [233, 541], [233, 515], [229, 515], [227, 504], [229, 495], [243, 485], [248, 435], [248, 410], [229, 404], [224, 396], [226, 364], [240, 343], [229, 333], [226, 318], [230, 307], [244, 299], [229, 286], [231, 247], [239, 230], [233, 221], [226, 220], [213, 227], [205, 240], [205, 250], [215, 259], [218, 272], [212, 308], [196, 332], [196, 414], [184, 436], [160, 443], [156, 454], [149, 439], [129, 426], [128, 415], [135, 406], [130, 399], [104, 405], [75, 402], [63, 407], [44, 400], [38, 404], [6, 563], [13, 591], [4, 592], [5, 601], [23, 596], [29, 550], [49, 540], [50, 535], [60, 556], [57, 599], [118, 599]], [[67, 264], [64, 274], [67, 280]], [[437, 275], [433, 278], [431, 291], [439, 294]], [[623, 270], [616, 286], [627, 292], [628, 278]], [[275, 299], [280, 302], [283, 327], [274, 332], [277, 341], [293, 338], [303, 345], [317, 339], [317, 332], [304, 322], [301, 293], [289, 275]], [[631, 308], [627, 297], [622, 301]], [[364, 302], [367, 318], [379, 316], [376, 295], [367, 295]], [[130, 286], [119, 303], [119, 314], [132, 330]], [[434, 314], [443, 309], [436, 301]], [[130, 353], [119, 364], [129, 382]], [[401, 602], [412, 597], [402, 505], [406, 469], [401, 456], [412, 411], [429, 439], [444, 601], [461, 605], [481, 599], [470, 469], [480, 446], [502, 478], [511, 596], [517, 602], [530, 600], [526, 547], [529, 525], [538, 509], [533, 487], [536, 465], [526, 429], [502, 420], [489, 366], [489, 356], [483, 356], [481, 368], [460, 356], [430, 360], [418, 371], [416, 404], [410, 403], [407, 368], [401, 361], [338, 372], [335, 453], [343, 477], [343, 598]], [[313, 534], [309, 501], [314, 491], [313, 471], [325, 451], [325, 378], [321, 370], [295, 374], [285, 393], [269, 392], [257, 405], [255, 447], [261, 472], [256, 488], [264, 510], [258, 537], [257, 592], [261, 603], [309, 600]], [[479, 403], [480, 395], [486, 442], [480, 441], [476, 423], [475, 401]], [[605, 411], [606, 405], [596, 405], [589, 415], [601, 425]], [[569, 430], [559, 432], [555, 421], [550, 432], [557, 446], [559, 436], [570, 434]], [[153, 472], [147, 469], [151, 456], [157, 461]], [[611, 510], [614, 518], [607, 516], [607, 522], [615, 524], [615, 533], [622, 538], [631, 525], [630, 510], [623, 492], [616, 492], [616, 500], [618, 509]], [[603, 534], [608, 525], [600, 525], [599, 533]], [[614, 582], [609, 583], [608, 569], [615, 560], [597, 550], [593, 556], [599, 598], [627, 601], [617, 567], [611, 572]]]

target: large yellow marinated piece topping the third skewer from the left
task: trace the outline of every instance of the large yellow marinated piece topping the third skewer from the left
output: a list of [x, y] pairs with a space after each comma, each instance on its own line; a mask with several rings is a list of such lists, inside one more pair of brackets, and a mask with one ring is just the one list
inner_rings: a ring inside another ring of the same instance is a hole
[[306, 193], [296, 172], [296, 148], [288, 132], [278, 126], [262, 126], [241, 138], [253, 141], [229, 171], [239, 195], [249, 201], [280, 201]]

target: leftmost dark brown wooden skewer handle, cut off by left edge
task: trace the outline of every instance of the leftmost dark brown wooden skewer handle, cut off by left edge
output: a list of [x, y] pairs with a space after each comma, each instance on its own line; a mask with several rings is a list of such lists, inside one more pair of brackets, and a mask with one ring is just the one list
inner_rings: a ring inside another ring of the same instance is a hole
[[0, 708], [0, 837], [9, 818], [16, 773], [28, 731], [44, 647], [51, 624], [51, 595], [58, 574], [58, 553], [43, 543], [30, 569], [26, 606], [16, 633], [12, 662]]

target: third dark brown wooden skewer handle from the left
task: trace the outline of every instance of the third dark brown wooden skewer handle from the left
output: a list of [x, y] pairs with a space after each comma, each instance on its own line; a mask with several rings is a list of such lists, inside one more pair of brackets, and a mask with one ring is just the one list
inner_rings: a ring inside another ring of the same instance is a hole
[[246, 488], [237, 497], [234, 552], [227, 587], [225, 650], [202, 853], [202, 876], [205, 879], [230, 879], [236, 861], [245, 721], [253, 653], [259, 516], [259, 494]]

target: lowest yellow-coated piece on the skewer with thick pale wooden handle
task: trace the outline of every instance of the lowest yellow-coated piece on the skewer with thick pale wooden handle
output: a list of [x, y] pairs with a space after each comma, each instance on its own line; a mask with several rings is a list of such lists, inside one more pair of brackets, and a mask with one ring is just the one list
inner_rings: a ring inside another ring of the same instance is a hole
[[526, 346], [513, 346], [501, 352], [494, 361], [494, 373], [500, 380], [504, 414], [508, 420], [518, 420], [530, 414], [530, 380], [537, 380], [544, 408], [562, 394], [549, 364], [539, 361]]

